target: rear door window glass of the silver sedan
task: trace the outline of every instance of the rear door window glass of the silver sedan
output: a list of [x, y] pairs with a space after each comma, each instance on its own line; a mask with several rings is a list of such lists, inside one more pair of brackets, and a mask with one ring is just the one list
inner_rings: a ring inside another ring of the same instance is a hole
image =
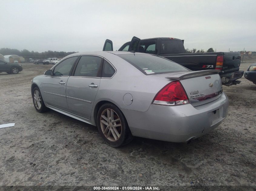
[[82, 56], [75, 69], [74, 76], [100, 77], [101, 61], [98, 56]]

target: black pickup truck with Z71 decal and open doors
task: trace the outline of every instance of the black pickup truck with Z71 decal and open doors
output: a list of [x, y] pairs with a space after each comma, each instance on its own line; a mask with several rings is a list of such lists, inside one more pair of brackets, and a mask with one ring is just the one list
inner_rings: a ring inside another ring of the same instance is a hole
[[[213, 53], [185, 53], [184, 40], [177, 38], [158, 37], [139, 39], [133, 37], [130, 42], [121, 46], [118, 51], [135, 51], [141, 53], [156, 54], [186, 68], [198, 70], [221, 70], [220, 76], [223, 85], [230, 86], [239, 84], [238, 81], [244, 74], [239, 70], [241, 54], [239, 52], [213, 52]], [[111, 40], [106, 40], [103, 51], [113, 50]]]

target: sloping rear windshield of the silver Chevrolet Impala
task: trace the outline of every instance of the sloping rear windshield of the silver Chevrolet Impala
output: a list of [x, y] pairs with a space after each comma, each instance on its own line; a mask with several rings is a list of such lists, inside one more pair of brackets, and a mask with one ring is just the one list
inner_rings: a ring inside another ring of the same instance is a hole
[[117, 56], [138, 68], [145, 75], [189, 71], [175, 62], [151, 54], [120, 54]]

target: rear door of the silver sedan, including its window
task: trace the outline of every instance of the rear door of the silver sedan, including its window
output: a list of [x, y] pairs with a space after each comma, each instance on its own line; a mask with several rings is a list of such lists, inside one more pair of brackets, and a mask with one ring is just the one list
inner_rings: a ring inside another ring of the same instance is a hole
[[103, 58], [84, 55], [67, 83], [69, 112], [91, 119], [91, 110], [101, 81]]

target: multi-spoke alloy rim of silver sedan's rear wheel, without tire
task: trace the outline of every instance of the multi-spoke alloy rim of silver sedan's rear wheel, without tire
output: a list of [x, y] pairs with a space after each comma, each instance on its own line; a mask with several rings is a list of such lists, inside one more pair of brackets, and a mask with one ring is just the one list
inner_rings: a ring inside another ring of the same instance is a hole
[[118, 114], [112, 109], [105, 109], [100, 118], [101, 130], [110, 141], [117, 141], [122, 133], [122, 125]]

